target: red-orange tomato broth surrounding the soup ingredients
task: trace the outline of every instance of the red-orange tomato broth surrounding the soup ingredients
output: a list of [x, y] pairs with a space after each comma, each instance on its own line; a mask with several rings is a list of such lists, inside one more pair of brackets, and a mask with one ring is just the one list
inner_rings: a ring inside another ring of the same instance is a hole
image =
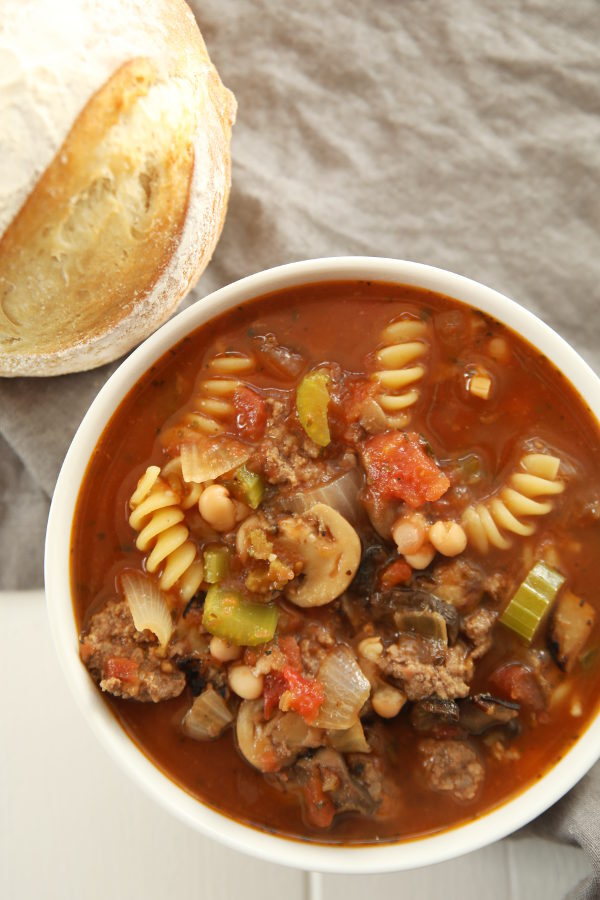
[[[597, 423], [561, 373], [505, 326], [458, 301], [407, 286], [330, 282], [275, 292], [221, 315], [181, 341], [155, 363], [113, 415], [90, 460], [73, 527], [73, 602], [80, 630], [85, 629], [92, 612], [114, 596], [118, 572], [125, 567], [142, 566], [143, 554], [135, 549], [134, 535], [127, 523], [128, 498], [146, 466], [160, 465], [158, 430], [189, 407], [194, 384], [212, 354], [225, 350], [247, 352], [251, 350], [252, 333], [268, 331], [276, 334], [282, 344], [302, 353], [308, 368], [330, 361], [350, 372], [362, 373], [370, 370], [379, 333], [390, 319], [408, 312], [424, 316], [435, 328], [436, 317], [448, 311], [459, 322], [460, 339], [447, 338], [444, 343], [438, 338], [432, 342], [428, 373], [421, 383], [422, 393], [410, 430], [430, 442], [443, 465], [477, 452], [492, 483], [497, 484], [516, 466], [523, 439], [541, 438], [562, 460], [577, 464], [579, 485], [587, 478], [597, 487]], [[511, 352], [509, 365], [485, 356], [484, 348], [491, 335], [506, 340]], [[478, 364], [484, 364], [492, 375], [491, 401], [470, 397], [465, 389], [465, 369]], [[450, 377], [451, 368], [454, 377]], [[272, 372], [259, 367], [248, 380], [259, 390], [274, 384], [293, 390], [299, 378], [296, 382], [278, 383]], [[485, 423], [480, 420], [482, 409], [489, 419]], [[484, 480], [484, 484], [485, 496], [490, 492], [490, 481]], [[538, 529], [541, 531], [554, 531], [562, 540], [558, 508], [544, 517], [543, 526]], [[538, 536], [525, 542], [535, 544]], [[565, 557], [564, 566], [571, 590], [592, 603], [600, 576], [595, 559], [598, 536], [597, 524], [587, 530], [579, 529], [576, 537], [582, 552], [578, 557]], [[491, 550], [486, 559], [492, 569], [510, 567], [511, 551]], [[515, 584], [524, 575], [521, 570], [513, 574]], [[310, 613], [315, 620], [326, 620], [332, 610]], [[500, 629], [502, 626], [497, 626], [497, 631]], [[506, 660], [507, 652], [509, 658], [520, 659], [518, 639], [502, 629], [502, 641], [504, 650], [492, 647], [479, 661], [473, 689], [486, 689], [486, 678], [500, 657]], [[599, 642], [597, 619], [588, 646]], [[557, 670], [557, 678], [563, 677]], [[507, 764], [486, 757], [486, 779], [473, 804], [459, 804], [427, 789], [415, 759], [414, 732], [405, 711], [396, 719], [387, 720], [384, 727], [389, 749], [385, 766], [398, 781], [401, 800], [397, 813], [379, 819], [345, 814], [326, 832], [306, 822], [293, 794], [284, 794], [241, 758], [231, 730], [206, 743], [181, 733], [178, 723], [191, 701], [188, 689], [179, 698], [156, 705], [108, 695], [105, 699], [140, 749], [165, 774], [210, 806], [258, 828], [299, 839], [368, 843], [415, 837], [476, 818], [540, 778], [567, 752], [598, 707], [598, 661], [592, 670], [578, 670], [571, 678], [577, 684], [582, 716], [573, 719], [564, 710], [555, 712], [547, 723], [522, 732], [515, 740], [522, 756], [509, 764], [509, 790]], [[564, 720], [568, 722], [565, 732], [557, 728], [557, 723]]]

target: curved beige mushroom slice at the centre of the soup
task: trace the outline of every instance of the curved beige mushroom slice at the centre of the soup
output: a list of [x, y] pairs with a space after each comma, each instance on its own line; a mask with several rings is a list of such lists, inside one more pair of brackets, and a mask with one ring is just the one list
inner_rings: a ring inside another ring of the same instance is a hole
[[325, 503], [301, 516], [282, 519], [279, 534], [294, 545], [302, 572], [286, 588], [296, 606], [324, 606], [346, 590], [358, 569], [360, 538], [350, 523]]

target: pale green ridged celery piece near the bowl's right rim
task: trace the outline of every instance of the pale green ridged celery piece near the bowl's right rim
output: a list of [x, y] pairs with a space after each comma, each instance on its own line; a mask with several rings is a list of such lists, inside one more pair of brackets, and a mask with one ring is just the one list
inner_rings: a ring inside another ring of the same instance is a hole
[[545, 562], [536, 563], [517, 588], [500, 621], [530, 643], [564, 581], [564, 576]]

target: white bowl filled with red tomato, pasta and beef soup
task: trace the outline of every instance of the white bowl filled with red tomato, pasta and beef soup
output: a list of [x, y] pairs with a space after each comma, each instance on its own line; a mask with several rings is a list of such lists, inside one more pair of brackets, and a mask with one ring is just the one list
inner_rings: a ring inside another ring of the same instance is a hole
[[600, 747], [600, 392], [543, 322], [378, 258], [177, 315], [66, 456], [67, 680], [150, 795], [239, 850], [381, 872], [509, 834]]

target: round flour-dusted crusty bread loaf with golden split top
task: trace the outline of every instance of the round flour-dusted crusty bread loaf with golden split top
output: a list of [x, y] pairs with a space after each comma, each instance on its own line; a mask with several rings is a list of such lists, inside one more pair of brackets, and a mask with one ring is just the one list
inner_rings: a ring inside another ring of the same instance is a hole
[[183, 0], [3, 0], [0, 26], [0, 375], [94, 368], [208, 263], [235, 100]]

